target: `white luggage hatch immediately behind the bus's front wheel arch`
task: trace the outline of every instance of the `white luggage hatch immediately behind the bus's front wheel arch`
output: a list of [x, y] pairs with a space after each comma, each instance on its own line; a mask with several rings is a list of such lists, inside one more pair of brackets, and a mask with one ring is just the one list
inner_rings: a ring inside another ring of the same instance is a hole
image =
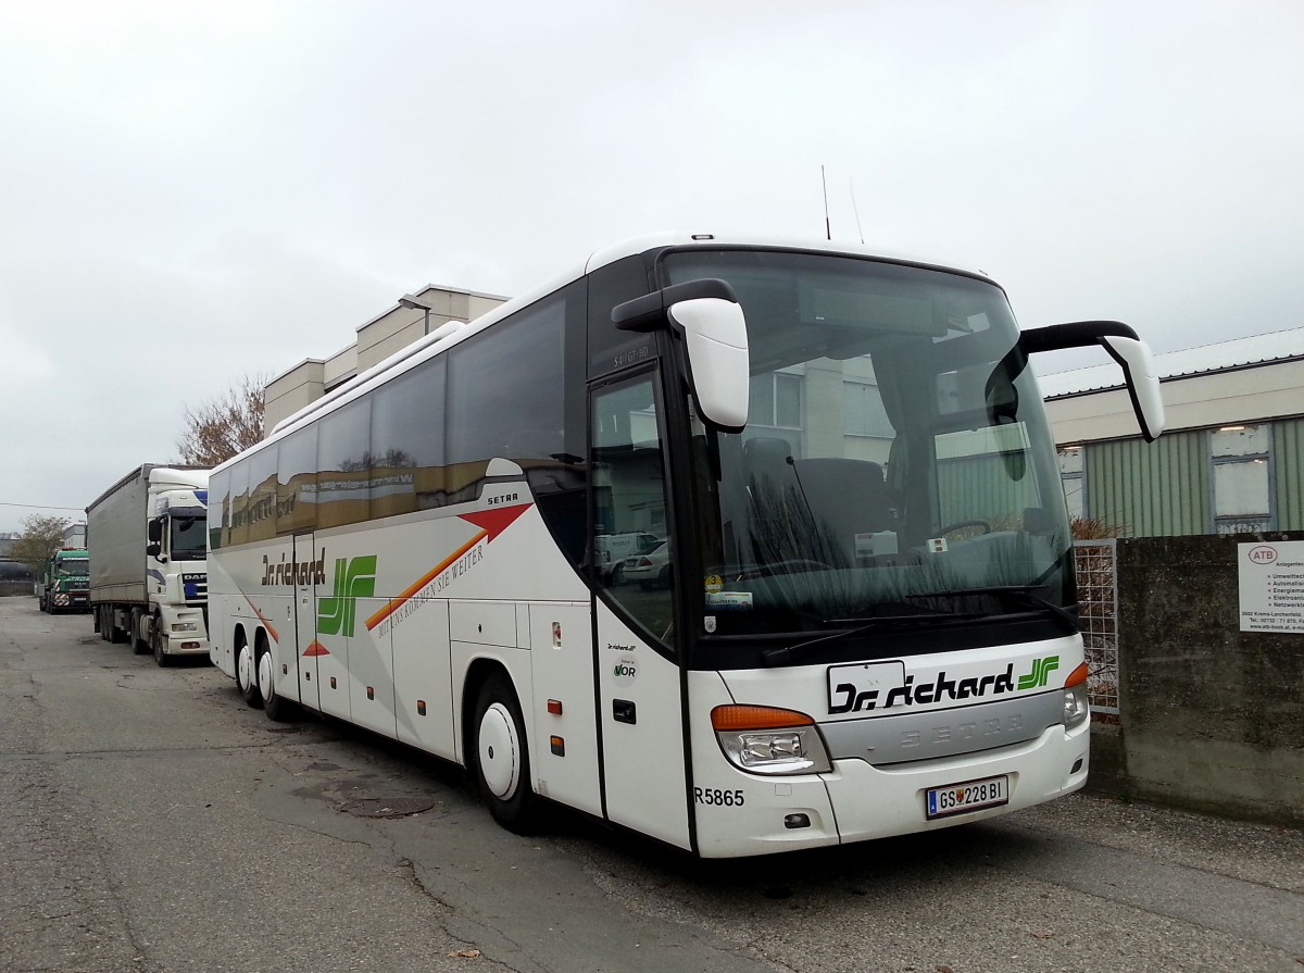
[[426, 599], [420, 625], [391, 629], [394, 710], [398, 738], [455, 760], [452, 669], [449, 656], [449, 603]]

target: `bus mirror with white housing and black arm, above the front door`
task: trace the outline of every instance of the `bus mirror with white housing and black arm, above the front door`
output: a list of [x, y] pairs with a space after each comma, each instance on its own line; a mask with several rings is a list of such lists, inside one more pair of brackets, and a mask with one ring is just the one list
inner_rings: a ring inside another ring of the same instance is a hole
[[625, 331], [651, 331], [670, 323], [683, 335], [689, 386], [698, 415], [725, 432], [747, 424], [751, 359], [747, 322], [733, 288], [707, 278], [665, 287], [612, 309]]

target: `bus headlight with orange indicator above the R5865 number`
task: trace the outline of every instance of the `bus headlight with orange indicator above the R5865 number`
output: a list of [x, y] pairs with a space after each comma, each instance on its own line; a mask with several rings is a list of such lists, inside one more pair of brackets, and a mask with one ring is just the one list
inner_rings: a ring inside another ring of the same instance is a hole
[[748, 773], [827, 773], [819, 729], [806, 713], [769, 706], [717, 706], [711, 726], [729, 763]]

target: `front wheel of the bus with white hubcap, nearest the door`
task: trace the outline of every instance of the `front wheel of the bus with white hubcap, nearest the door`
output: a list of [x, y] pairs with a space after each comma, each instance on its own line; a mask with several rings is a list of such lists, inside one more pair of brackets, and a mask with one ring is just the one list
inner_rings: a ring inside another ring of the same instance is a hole
[[476, 699], [475, 775], [489, 813], [507, 831], [533, 832], [540, 823], [540, 800], [529, 780], [520, 703], [506, 674], [485, 680]]

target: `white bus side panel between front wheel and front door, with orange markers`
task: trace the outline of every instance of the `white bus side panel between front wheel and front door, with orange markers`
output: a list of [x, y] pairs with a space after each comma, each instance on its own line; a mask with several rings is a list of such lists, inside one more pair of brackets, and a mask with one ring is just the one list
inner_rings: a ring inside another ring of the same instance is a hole
[[545, 603], [528, 609], [536, 789], [553, 801], [601, 816], [589, 605]]

